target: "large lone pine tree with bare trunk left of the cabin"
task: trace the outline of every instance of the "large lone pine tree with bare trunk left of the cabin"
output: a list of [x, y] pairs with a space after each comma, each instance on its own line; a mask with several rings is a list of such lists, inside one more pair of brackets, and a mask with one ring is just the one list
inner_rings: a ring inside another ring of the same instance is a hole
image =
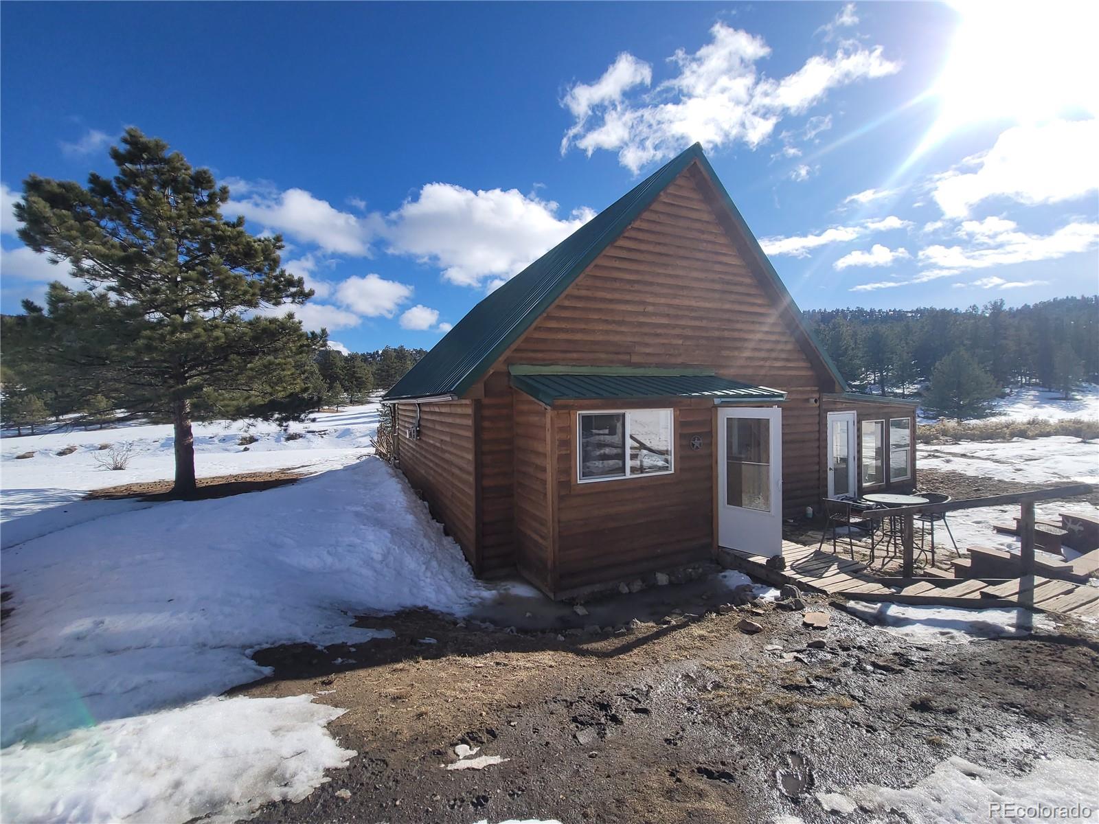
[[136, 129], [111, 159], [118, 174], [92, 172], [87, 187], [24, 181], [20, 240], [67, 259], [89, 291], [55, 282], [45, 311], [24, 304], [16, 348], [33, 353], [55, 385], [113, 398], [130, 417], [170, 417], [175, 492], [192, 494], [191, 422], [306, 412], [302, 375], [324, 333], [256, 313], [312, 292], [280, 268], [280, 237], [256, 237], [243, 218], [222, 216], [229, 189], [208, 169]]

